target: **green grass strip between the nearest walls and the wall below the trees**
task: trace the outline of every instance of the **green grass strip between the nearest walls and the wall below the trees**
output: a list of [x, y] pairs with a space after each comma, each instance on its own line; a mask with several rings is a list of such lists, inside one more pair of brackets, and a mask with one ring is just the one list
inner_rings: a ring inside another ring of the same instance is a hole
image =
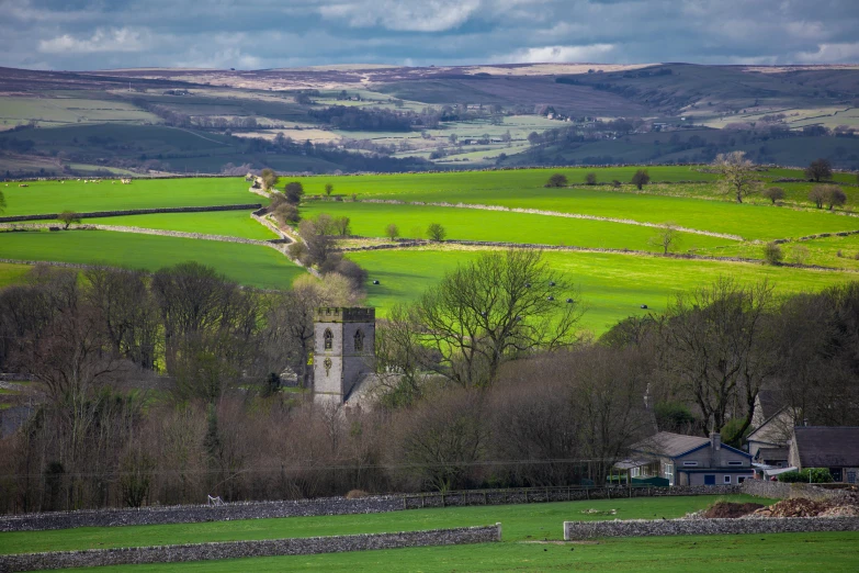
[[[417, 531], [448, 527], [490, 525], [500, 521], [505, 541], [561, 540], [562, 523], [580, 519], [653, 519], [682, 517], [716, 499], [760, 501], [748, 495], [640, 497], [530, 505], [496, 505], [410, 509], [366, 515], [247, 519], [159, 526], [81, 527], [53, 531], [0, 533], [0, 553], [66, 551], [112, 547], [163, 546], [210, 541], [237, 541], [386, 531]], [[617, 515], [583, 514], [585, 509], [614, 509]]]

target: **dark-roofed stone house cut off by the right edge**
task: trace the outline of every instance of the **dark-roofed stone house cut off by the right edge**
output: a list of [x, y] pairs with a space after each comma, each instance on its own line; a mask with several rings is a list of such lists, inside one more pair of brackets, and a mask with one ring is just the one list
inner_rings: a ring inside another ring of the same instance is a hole
[[799, 470], [827, 468], [836, 482], [859, 483], [859, 426], [796, 426], [788, 456]]

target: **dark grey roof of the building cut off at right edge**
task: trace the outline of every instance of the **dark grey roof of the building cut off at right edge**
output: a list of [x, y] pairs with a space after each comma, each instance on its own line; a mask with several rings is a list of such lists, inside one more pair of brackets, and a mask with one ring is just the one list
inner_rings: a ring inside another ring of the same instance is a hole
[[859, 468], [859, 426], [796, 426], [793, 437], [803, 468]]

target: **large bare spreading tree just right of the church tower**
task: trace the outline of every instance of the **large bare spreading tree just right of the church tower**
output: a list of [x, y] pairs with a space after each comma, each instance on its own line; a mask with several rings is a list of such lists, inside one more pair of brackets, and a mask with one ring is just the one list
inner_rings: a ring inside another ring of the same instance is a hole
[[445, 274], [410, 319], [439, 357], [428, 368], [462, 386], [484, 386], [506, 360], [574, 345], [583, 314], [575, 296], [541, 251], [494, 251]]

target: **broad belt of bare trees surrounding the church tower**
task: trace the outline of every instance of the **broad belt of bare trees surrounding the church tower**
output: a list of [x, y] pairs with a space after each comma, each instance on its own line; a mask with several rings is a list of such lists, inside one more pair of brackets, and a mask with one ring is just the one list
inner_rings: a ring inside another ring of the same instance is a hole
[[739, 443], [765, 390], [798, 420], [859, 417], [859, 283], [722, 278], [595, 338], [541, 252], [489, 251], [377, 321], [369, 408], [302, 390], [314, 308], [361, 302], [337, 272], [81, 274], [0, 291], [0, 367], [42, 396], [0, 440], [5, 512], [602, 483], [656, 429]]

